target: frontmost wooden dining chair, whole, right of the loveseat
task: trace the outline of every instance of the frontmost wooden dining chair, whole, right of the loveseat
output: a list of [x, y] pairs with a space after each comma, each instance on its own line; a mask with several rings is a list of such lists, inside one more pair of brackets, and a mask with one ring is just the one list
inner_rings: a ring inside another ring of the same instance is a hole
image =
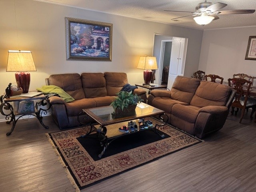
[[[244, 86], [244, 84], [246, 83], [248, 85]], [[244, 117], [244, 111], [246, 109], [252, 108], [252, 112], [250, 114], [251, 119], [253, 119], [252, 115], [256, 110], [256, 100], [248, 97], [251, 85], [252, 85], [252, 82], [246, 79], [242, 79], [242, 78], [228, 79], [228, 86], [236, 90], [235, 98], [233, 100], [233, 103], [231, 104], [231, 114], [234, 114], [235, 107], [237, 108], [235, 114], [237, 114], [238, 108], [242, 109], [242, 114], [241, 114], [239, 123], [241, 123], [242, 118]]]

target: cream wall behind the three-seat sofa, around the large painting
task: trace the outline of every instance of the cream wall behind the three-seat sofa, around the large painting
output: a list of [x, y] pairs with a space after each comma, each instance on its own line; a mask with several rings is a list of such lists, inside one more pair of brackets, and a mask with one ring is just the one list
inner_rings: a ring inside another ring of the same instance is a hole
[[[141, 55], [152, 54], [154, 33], [188, 37], [185, 75], [198, 68], [202, 30], [33, 0], [0, 0], [0, 17], [2, 93], [15, 82], [15, 72], [6, 72], [8, 50], [32, 51], [37, 71], [30, 72], [30, 90], [44, 85], [50, 74], [67, 72], [126, 72], [130, 84], [142, 83], [137, 62]], [[66, 60], [65, 17], [112, 23], [112, 62]]]

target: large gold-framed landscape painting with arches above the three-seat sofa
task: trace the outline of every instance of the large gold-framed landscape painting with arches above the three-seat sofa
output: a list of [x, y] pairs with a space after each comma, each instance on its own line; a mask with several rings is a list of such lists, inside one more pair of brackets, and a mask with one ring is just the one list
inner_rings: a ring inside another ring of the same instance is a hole
[[67, 60], [112, 60], [113, 24], [65, 17]]

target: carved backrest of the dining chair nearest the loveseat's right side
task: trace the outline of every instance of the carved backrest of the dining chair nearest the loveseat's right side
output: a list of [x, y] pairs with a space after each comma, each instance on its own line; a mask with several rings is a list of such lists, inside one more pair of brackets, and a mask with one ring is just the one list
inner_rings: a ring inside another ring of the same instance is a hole
[[[247, 84], [247, 85], [244, 86], [244, 84]], [[238, 107], [238, 108], [244, 108], [246, 106], [251, 85], [252, 85], [251, 81], [248, 81], [243, 78], [228, 79], [228, 86], [236, 90], [235, 100], [233, 101], [232, 106]], [[246, 90], [246, 92], [244, 92], [244, 90]], [[243, 105], [241, 104], [241, 98], [244, 99], [244, 102], [242, 102], [244, 103]]]

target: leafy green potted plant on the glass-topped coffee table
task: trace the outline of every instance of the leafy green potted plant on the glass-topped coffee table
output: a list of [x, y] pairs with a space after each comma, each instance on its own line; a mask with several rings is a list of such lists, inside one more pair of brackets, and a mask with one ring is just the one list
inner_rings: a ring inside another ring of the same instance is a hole
[[115, 114], [135, 112], [137, 103], [143, 101], [137, 94], [132, 94], [132, 91], [120, 91], [116, 96], [116, 99], [110, 104], [113, 106]]

